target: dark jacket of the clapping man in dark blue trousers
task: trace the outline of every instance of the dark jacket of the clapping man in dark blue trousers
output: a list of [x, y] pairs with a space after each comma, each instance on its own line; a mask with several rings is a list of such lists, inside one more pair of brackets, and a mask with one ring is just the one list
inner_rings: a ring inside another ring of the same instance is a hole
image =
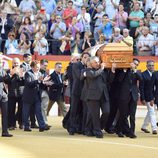
[[[38, 72], [38, 77], [41, 76], [41, 73]], [[23, 92], [23, 102], [34, 104], [36, 101], [41, 100], [41, 89], [40, 81], [35, 79], [34, 72], [29, 70], [25, 73], [25, 82], [24, 82], [24, 92]]]

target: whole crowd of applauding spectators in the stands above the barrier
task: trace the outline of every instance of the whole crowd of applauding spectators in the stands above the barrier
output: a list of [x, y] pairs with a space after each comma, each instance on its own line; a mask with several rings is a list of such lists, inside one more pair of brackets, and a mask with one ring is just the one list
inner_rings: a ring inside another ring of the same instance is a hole
[[158, 0], [1, 0], [5, 54], [82, 53], [123, 42], [134, 55], [158, 55]]

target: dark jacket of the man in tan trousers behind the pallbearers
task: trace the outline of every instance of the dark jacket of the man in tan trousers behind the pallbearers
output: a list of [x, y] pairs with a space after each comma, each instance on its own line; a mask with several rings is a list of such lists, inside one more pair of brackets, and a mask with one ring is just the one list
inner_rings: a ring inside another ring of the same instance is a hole
[[50, 77], [53, 85], [49, 88], [49, 98], [50, 100], [57, 101], [63, 98], [63, 82], [61, 83], [59, 76], [55, 71], [50, 75]]

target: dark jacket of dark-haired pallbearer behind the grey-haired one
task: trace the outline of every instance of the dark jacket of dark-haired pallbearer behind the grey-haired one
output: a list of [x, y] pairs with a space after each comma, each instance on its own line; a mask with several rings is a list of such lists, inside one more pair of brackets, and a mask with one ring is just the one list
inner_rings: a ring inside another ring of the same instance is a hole
[[83, 81], [80, 80], [82, 69], [84, 69], [84, 65], [80, 61], [74, 63], [72, 66], [72, 75], [73, 75], [72, 94], [79, 97], [81, 96], [81, 91], [83, 88]]

